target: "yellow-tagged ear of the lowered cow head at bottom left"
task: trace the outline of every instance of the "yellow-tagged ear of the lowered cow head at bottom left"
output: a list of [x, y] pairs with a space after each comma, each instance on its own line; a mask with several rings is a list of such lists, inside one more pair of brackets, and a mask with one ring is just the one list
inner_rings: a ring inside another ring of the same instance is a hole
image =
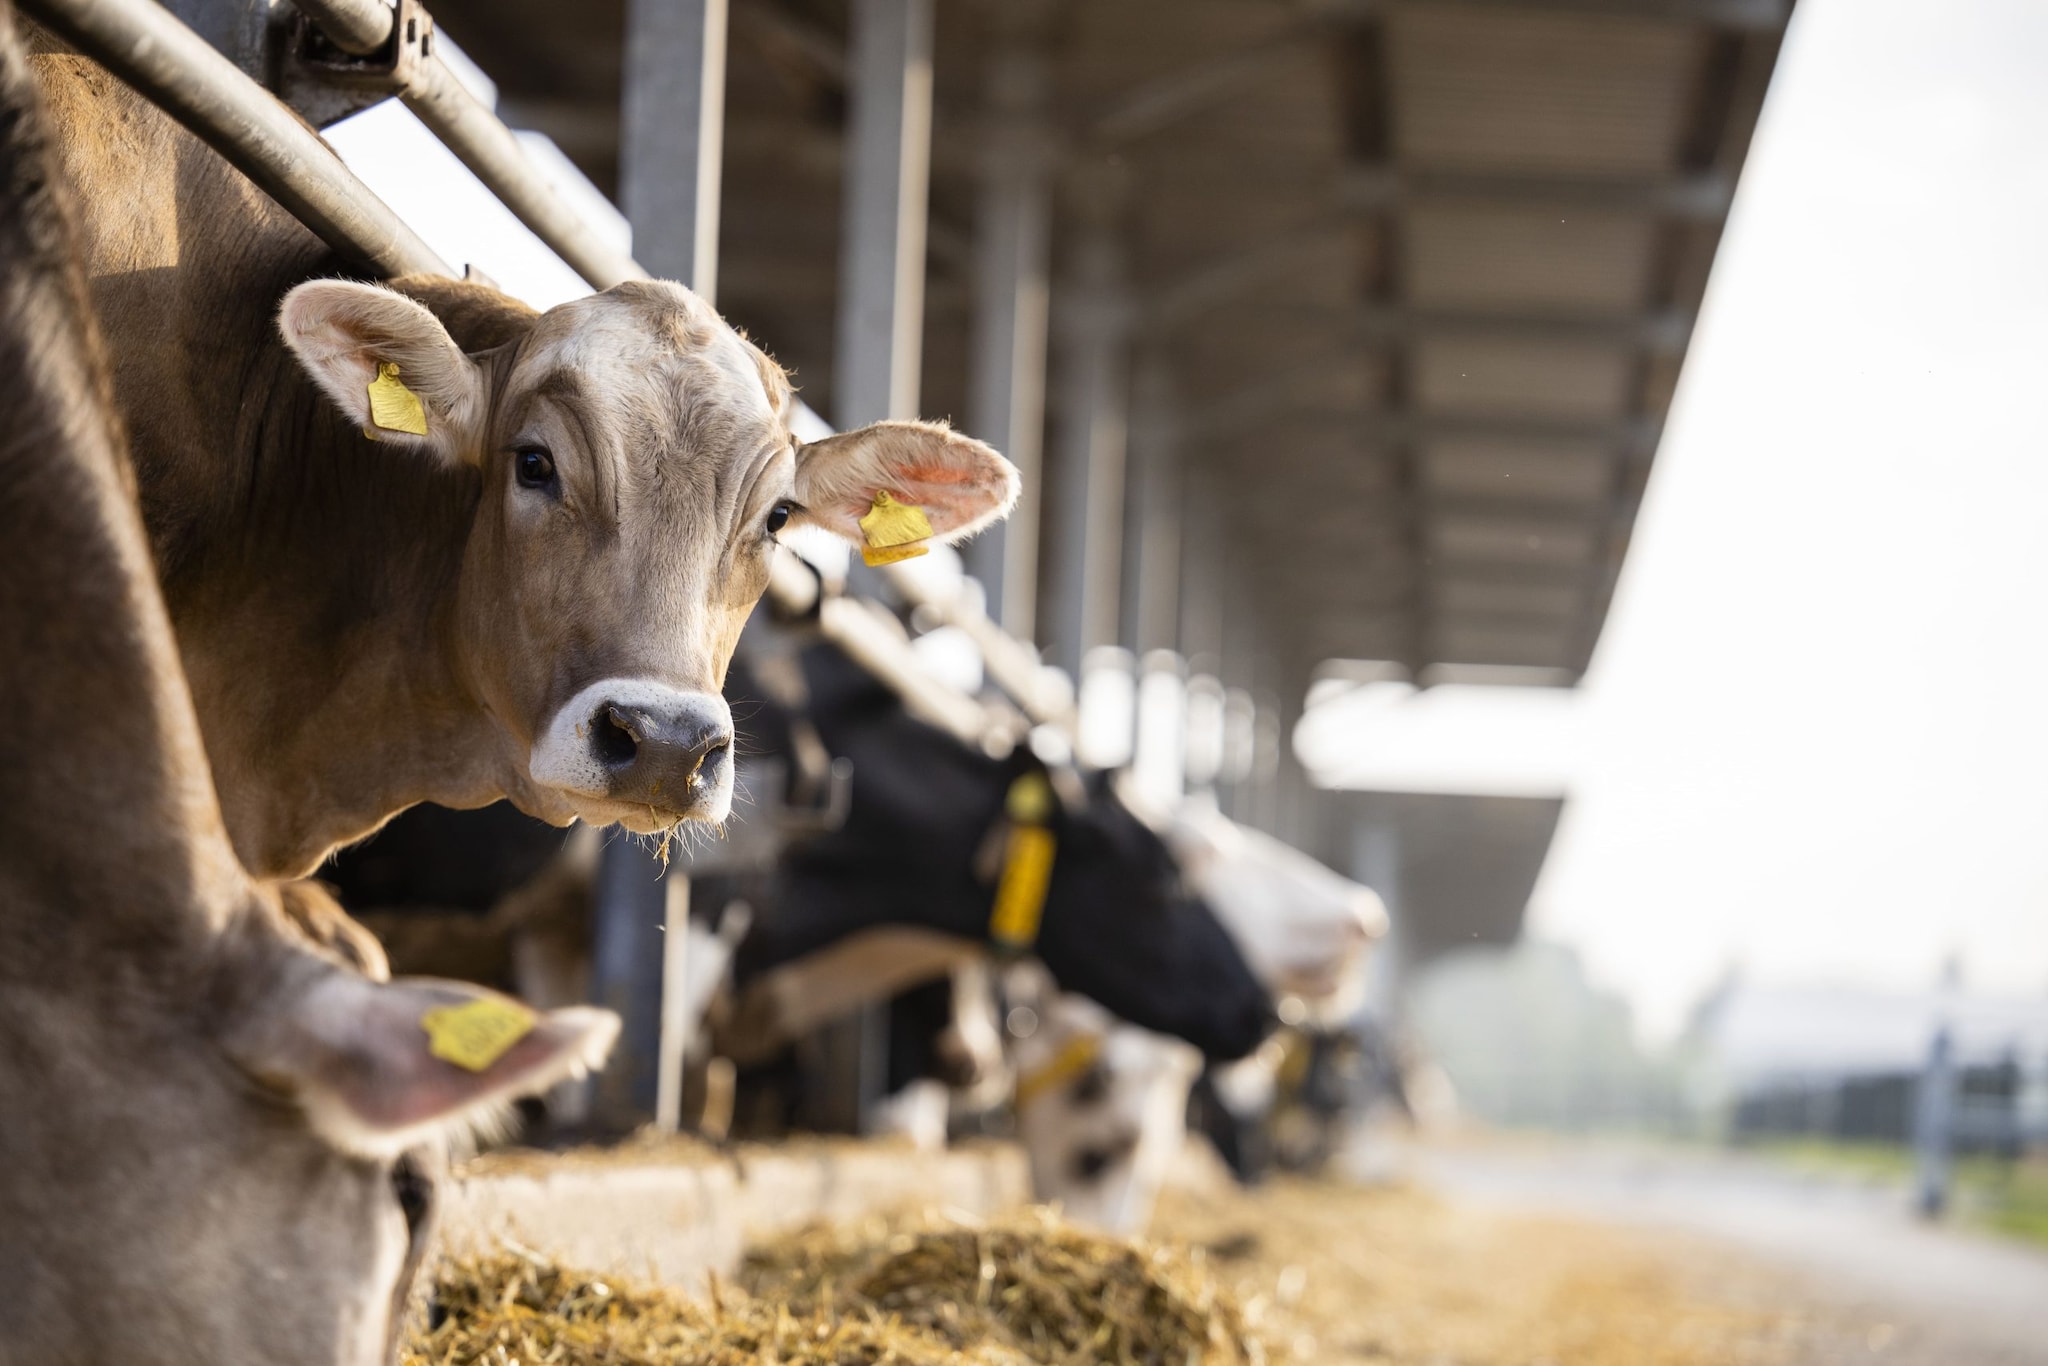
[[311, 971], [242, 1020], [227, 1053], [365, 1157], [489, 1135], [514, 1100], [602, 1067], [618, 1036], [608, 1010], [539, 1012], [457, 981]]

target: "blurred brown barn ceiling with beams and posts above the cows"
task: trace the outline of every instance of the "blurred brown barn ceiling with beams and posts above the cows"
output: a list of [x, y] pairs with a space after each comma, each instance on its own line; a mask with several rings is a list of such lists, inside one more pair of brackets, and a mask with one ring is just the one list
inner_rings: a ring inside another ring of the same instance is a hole
[[[508, 121], [631, 211], [639, 14], [434, 8]], [[1178, 651], [1278, 713], [1270, 735], [1329, 659], [1571, 684], [1790, 10], [731, 0], [717, 303], [838, 422], [907, 393], [1020, 457], [1034, 498], [969, 563], [1053, 661]], [[915, 362], [862, 397], [850, 115], [887, 45], [866, 29], [905, 12], [930, 25], [901, 49], [930, 55], [930, 127], [899, 125], [930, 166]], [[1518, 932], [1556, 803], [1446, 825], [1444, 801], [1327, 801], [1276, 760], [1235, 813], [1339, 864], [1362, 825], [1436, 850], [1417, 948]]]

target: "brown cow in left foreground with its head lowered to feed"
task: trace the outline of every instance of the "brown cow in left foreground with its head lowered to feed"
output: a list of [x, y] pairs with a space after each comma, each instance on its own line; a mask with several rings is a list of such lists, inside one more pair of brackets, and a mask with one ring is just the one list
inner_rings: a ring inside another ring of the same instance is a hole
[[[616, 1018], [373, 985], [236, 862], [59, 186], [0, 0], [0, 1362], [375, 1366], [432, 1223], [397, 1153]], [[459, 1067], [438, 1008], [506, 1028]]]

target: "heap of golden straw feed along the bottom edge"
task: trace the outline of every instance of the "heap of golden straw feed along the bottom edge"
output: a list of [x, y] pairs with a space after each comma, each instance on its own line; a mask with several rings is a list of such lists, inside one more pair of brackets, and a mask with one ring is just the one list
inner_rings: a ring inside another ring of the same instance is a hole
[[698, 1303], [524, 1249], [444, 1266], [403, 1366], [1260, 1366], [1198, 1255], [1032, 1212], [815, 1231]]

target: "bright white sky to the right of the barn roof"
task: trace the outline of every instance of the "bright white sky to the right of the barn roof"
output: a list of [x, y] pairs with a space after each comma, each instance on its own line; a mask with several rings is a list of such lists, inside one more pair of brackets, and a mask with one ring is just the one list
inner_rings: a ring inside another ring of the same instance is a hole
[[1532, 930], [1655, 1032], [2048, 993], [2048, 4], [1800, 0], [1579, 707], [1372, 707], [1352, 782], [1569, 774]]

